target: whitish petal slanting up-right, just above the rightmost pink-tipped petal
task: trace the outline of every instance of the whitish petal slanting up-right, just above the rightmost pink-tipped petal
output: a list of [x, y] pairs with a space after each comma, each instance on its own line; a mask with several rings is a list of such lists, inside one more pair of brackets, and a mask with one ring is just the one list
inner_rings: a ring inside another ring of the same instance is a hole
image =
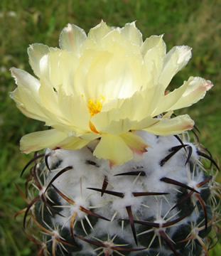
[[174, 46], [167, 54], [163, 63], [163, 70], [158, 82], [164, 89], [178, 71], [180, 71], [190, 60], [191, 48], [189, 46]]

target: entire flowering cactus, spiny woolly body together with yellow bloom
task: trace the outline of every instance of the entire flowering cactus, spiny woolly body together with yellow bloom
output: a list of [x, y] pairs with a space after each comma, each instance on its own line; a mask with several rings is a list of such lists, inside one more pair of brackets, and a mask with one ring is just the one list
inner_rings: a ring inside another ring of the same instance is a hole
[[166, 53], [163, 36], [143, 41], [134, 22], [103, 21], [88, 35], [68, 24], [59, 44], [28, 48], [36, 77], [11, 68], [18, 109], [50, 127], [21, 138], [35, 154], [21, 173], [30, 170], [26, 193], [16, 185], [38, 255], [208, 255], [219, 166], [188, 114], [173, 111], [212, 82], [190, 77], [168, 90], [191, 48]]

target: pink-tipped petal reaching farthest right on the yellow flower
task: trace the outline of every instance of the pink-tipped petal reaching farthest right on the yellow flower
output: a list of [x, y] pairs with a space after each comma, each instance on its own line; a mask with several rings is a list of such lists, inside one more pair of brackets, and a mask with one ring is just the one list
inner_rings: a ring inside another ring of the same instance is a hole
[[188, 87], [182, 97], [169, 110], [178, 110], [193, 105], [198, 100], [203, 99], [207, 90], [210, 90], [213, 86], [210, 80], [203, 78], [190, 77], [186, 83], [188, 83]]

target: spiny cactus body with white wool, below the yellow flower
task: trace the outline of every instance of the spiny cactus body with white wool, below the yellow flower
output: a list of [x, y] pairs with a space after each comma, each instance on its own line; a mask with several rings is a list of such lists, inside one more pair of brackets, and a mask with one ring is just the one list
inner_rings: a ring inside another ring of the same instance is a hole
[[27, 236], [38, 255], [208, 255], [220, 193], [215, 161], [187, 132], [136, 133], [151, 148], [112, 168], [93, 156], [97, 142], [36, 154], [24, 225], [33, 225]]

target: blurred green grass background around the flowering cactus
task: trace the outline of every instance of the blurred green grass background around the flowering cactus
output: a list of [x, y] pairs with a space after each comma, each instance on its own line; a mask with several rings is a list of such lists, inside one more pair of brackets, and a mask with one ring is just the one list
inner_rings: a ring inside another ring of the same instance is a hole
[[[171, 86], [182, 85], [190, 75], [215, 84], [204, 100], [180, 112], [195, 119], [200, 141], [217, 160], [221, 154], [220, 14], [219, 0], [0, 1], [0, 255], [36, 255], [36, 248], [22, 234], [22, 216], [14, 220], [15, 213], [26, 206], [14, 182], [23, 186], [19, 175], [31, 158], [20, 154], [19, 139], [23, 134], [43, 129], [43, 123], [23, 117], [9, 98], [9, 92], [16, 88], [9, 68], [14, 66], [32, 73], [28, 45], [58, 46], [59, 33], [67, 23], [75, 23], [88, 32], [103, 19], [109, 26], [136, 21], [144, 38], [165, 33], [168, 50], [176, 45], [192, 47], [193, 58]], [[210, 255], [220, 255], [220, 250], [221, 243]]]

